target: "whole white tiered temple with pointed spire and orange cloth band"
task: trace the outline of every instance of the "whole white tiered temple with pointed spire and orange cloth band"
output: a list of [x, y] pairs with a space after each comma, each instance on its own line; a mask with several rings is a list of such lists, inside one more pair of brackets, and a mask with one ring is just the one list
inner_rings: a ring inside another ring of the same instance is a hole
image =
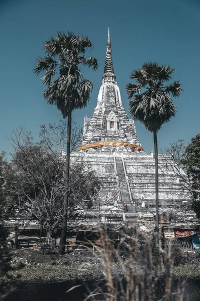
[[[161, 223], [172, 228], [194, 228], [196, 217], [189, 209], [190, 196], [173, 172], [166, 171], [169, 157], [159, 155], [159, 212]], [[112, 64], [108, 30], [102, 84], [91, 118], [84, 118], [83, 136], [71, 164], [82, 162], [96, 171], [102, 189], [93, 207], [81, 207], [73, 224], [97, 222], [152, 227], [155, 218], [154, 156], [146, 154], [138, 141], [133, 119], [128, 119]], [[124, 210], [127, 204], [128, 210]]]

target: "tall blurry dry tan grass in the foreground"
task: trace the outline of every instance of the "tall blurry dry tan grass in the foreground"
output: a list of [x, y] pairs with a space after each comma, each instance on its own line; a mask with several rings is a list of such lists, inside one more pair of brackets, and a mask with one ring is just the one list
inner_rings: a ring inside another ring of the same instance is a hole
[[[172, 293], [171, 245], [164, 247], [161, 235], [156, 244], [152, 234], [137, 229], [120, 231], [118, 241], [113, 239], [114, 231], [110, 229], [101, 228], [99, 233], [98, 243], [90, 241], [90, 244], [100, 254], [97, 260], [102, 262], [104, 278], [89, 291], [85, 301], [183, 300], [183, 286], [179, 285]], [[120, 267], [120, 277], [114, 273], [113, 265]]]

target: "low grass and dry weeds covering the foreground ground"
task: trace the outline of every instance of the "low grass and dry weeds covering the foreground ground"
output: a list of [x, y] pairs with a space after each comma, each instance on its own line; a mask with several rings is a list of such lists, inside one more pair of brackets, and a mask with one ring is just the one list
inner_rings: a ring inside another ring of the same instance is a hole
[[96, 231], [97, 240], [87, 244], [87, 248], [85, 244], [84, 248], [80, 244], [78, 248], [69, 245], [61, 257], [55, 253], [50, 259], [38, 250], [17, 249], [14, 259], [17, 256], [26, 262], [21, 281], [76, 279], [82, 284], [83, 279], [91, 280], [90, 300], [177, 301], [185, 293], [187, 278], [199, 277], [199, 259], [195, 254], [183, 252], [170, 243], [164, 246], [159, 243], [157, 252], [155, 238], [150, 233], [102, 225]]

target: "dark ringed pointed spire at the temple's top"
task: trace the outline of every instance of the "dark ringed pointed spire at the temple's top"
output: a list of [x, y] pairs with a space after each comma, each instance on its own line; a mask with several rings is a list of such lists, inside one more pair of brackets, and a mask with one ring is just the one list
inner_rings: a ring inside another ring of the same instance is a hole
[[111, 43], [109, 37], [109, 27], [108, 27], [107, 48], [106, 48], [106, 55], [105, 55], [105, 66], [104, 66], [104, 73], [103, 73], [103, 78], [105, 79], [105, 77], [108, 81], [115, 80], [116, 78], [114, 75], [114, 68], [112, 64], [112, 51], [111, 51]]

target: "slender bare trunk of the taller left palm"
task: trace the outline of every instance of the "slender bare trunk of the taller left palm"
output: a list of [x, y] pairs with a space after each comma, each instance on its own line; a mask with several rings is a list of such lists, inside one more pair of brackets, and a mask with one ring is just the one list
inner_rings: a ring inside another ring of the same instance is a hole
[[70, 140], [71, 140], [71, 111], [67, 115], [67, 138], [66, 138], [66, 194], [64, 198], [64, 213], [62, 228], [59, 241], [59, 254], [64, 254], [66, 244], [66, 231], [67, 231], [67, 213], [68, 213], [68, 184], [69, 184], [69, 159], [70, 159]]

